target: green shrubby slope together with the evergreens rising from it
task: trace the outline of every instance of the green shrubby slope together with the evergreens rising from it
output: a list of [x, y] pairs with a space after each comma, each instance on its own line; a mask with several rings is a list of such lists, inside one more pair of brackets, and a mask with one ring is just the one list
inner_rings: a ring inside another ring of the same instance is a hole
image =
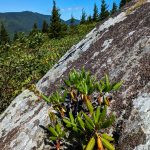
[[[68, 26], [60, 19], [55, 1], [53, 4], [50, 25], [44, 21], [41, 30], [35, 23], [29, 35], [15, 32], [13, 41], [10, 41], [4, 24], [1, 24], [0, 112], [3, 112], [24, 88], [36, 83], [72, 45], [78, 43], [95, 27], [98, 20], [103, 20], [110, 14], [105, 0], [102, 0], [100, 15], [97, 6], [94, 5], [93, 16], [87, 17], [82, 10], [80, 25], [76, 24], [72, 16]], [[113, 6], [112, 13], [116, 11], [115, 4]]]

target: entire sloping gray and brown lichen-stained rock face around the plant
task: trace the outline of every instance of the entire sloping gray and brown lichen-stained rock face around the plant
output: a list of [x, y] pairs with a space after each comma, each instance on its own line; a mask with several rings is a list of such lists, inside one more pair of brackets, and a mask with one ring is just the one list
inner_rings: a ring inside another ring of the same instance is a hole
[[[124, 80], [114, 95], [112, 110], [122, 122], [119, 150], [150, 148], [150, 3], [136, 8], [130, 3], [117, 16], [97, 25], [74, 45], [37, 83], [49, 95], [72, 68], [90, 70], [100, 79]], [[132, 11], [128, 8], [132, 7]], [[129, 13], [130, 12], [130, 13]], [[25, 90], [0, 116], [1, 150], [46, 150], [44, 133], [48, 106]]]

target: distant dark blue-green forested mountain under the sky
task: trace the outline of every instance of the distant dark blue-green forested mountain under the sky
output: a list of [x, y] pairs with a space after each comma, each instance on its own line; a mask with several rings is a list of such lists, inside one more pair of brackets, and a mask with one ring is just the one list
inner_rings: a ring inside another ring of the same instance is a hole
[[[36, 12], [23, 11], [23, 12], [7, 12], [0, 13], [0, 22], [2, 21], [6, 26], [8, 32], [12, 35], [14, 32], [29, 32], [33, 24], [37, 23], [41, 29], [43, 21], [50, 22], [50, 15], [43, 15]], [[70, 20], [62, 22], [70, 24]], [[79, 24], [79, 20], [75, 20], [75, 24]]]

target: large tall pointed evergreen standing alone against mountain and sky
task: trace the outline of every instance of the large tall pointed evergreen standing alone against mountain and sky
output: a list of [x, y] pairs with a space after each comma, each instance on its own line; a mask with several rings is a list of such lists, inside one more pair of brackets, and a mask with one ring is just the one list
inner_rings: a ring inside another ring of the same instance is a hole
[[59, 38], [62, 33], [62, 23], [60, 19], [59, 9], [56, 7], [56, 2], [53, 1], [52, 15], [50, 19], [50, 37]]

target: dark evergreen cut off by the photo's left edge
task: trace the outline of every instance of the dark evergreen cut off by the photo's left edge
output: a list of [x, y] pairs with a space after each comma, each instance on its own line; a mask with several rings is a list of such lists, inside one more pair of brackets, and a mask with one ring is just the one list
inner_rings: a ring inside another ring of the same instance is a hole
[[1, 28], [0, 28], [0, 44], [6, 44], [10, 42], [9, 35], [5, 29], [5, 26], [3, 23], [1, 23]]

